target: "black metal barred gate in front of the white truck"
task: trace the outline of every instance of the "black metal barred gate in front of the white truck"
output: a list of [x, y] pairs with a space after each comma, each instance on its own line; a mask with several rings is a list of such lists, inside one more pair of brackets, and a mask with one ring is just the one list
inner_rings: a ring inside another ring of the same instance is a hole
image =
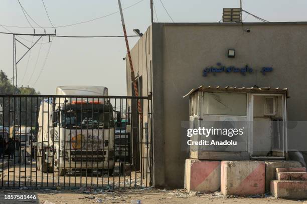
[[1, 187], [152, 185], [150, 97], [0, 95], [0, 104]]

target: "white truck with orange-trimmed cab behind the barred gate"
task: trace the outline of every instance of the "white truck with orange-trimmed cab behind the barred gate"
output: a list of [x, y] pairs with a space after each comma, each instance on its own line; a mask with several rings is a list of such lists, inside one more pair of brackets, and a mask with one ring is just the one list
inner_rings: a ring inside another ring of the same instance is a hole
[[95, 98], [108, 95], [108, 89], [58, 86], [56, 95], [59, 96], [43, 98], [40, 105], [37, 168], [43, 172], [58, 171], [59, 175], [85, 170], [112, 174], [113, 107], [107, 98]]

